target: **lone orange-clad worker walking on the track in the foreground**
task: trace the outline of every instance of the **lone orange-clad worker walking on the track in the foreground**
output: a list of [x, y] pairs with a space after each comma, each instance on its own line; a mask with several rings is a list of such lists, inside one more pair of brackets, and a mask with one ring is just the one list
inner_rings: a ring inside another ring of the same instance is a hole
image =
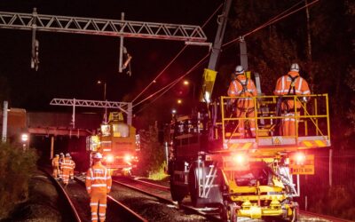
[[[105, 221], [107, 194], [111, 190], [112, 178], [109, 170], [101, 163], [102, 155], [94, 154], [91, 168], [86, 172], [86, 190], [90, 195], [91, 221]], [[99, 218], [98, 218], [99, 209]]]

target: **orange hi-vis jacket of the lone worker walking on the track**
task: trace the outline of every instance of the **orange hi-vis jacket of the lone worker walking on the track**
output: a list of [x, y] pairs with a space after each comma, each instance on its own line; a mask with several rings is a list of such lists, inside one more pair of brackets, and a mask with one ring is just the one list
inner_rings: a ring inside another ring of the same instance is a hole
[[86, 190], [88, 194], [108, 194], [112, 186], [110, 172], [102, 163], [98, 162], [86, 172]]

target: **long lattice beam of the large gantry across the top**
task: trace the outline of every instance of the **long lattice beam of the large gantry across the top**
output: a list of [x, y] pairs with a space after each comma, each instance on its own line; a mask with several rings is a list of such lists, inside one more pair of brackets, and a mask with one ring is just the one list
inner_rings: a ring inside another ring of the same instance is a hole
[[[34, 22], [35, 21], [35, 22]], [[0, 28], [167, 39], [185, 42], [205, 42], [199, 26], [154, 23], [130, 20], [105, 20], [35, 13], [0, 12]]]

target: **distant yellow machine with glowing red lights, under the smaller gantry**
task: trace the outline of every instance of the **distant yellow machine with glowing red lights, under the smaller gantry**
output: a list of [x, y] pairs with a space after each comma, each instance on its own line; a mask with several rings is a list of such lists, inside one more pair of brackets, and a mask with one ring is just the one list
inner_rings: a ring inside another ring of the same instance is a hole
[[103, 155], [103, 163], [112, 174], [130, 174], [137, 167], [139, 137], [136, 129], [123, 122], [122, 113], [110, 113], [108, 123], [100, 125], [98, 135], [87, 139], [91, 154]]

